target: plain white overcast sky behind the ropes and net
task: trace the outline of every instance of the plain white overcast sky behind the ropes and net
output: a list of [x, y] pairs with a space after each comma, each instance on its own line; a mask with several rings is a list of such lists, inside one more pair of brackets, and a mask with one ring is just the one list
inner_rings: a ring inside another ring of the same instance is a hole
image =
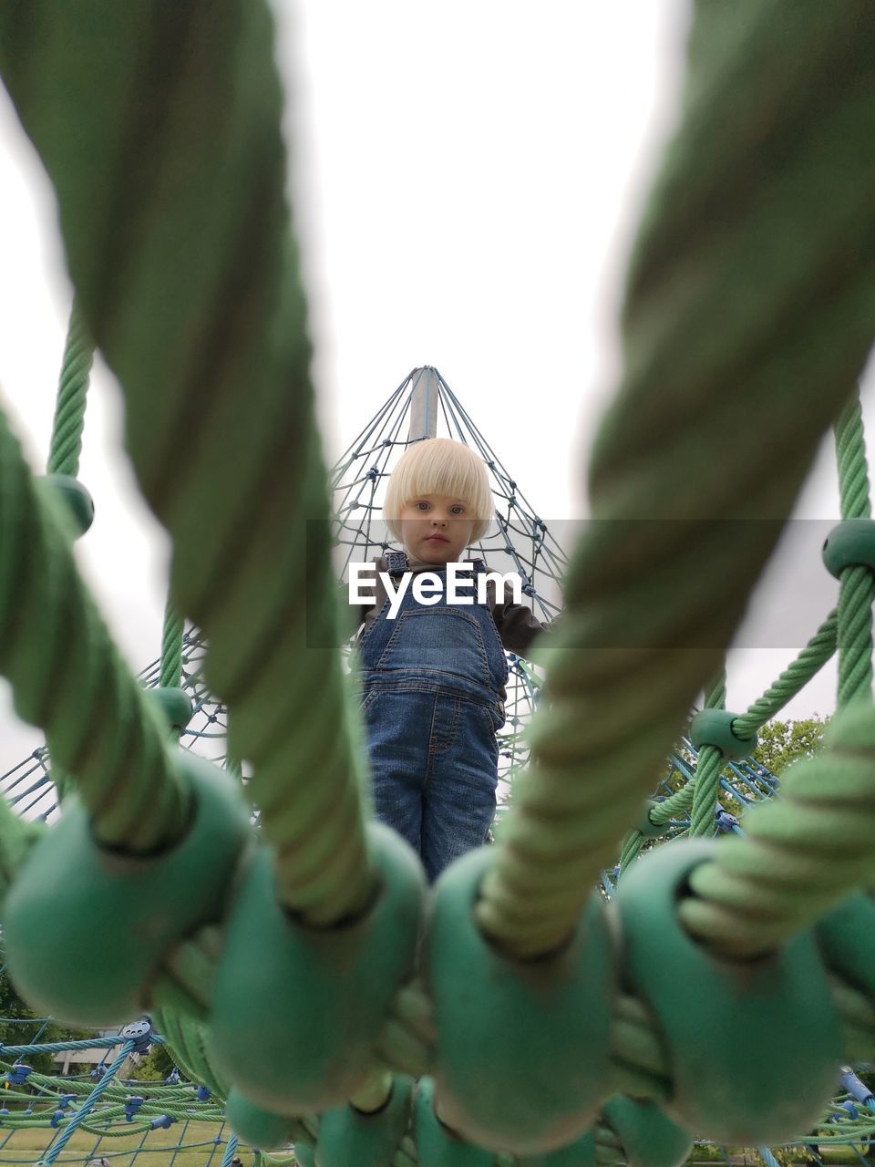
[[[538, 512], [580, 516], [617, 369], [624, 257], [674, 114], [686, 4], [548, 0], [537, 16], [519, 0], [275, 6], [329, 460], [412, 368], [433, 364]], [[51, 190], [0, 98], [0, 401], [41, 471], [70, 288]], [[98, 368], [80, 470], [97, 518], [77, 554], [139, 670], [160, 650], [167, 544], [120, 450], [119, 411]], [[755, 473], [743, 441], [738, 473]], [[838, 516], [828, 449], [797, 515]], [[764, 619], [789, 582], [762, 589]], [[792, 656], [733, 654], [730, 707]], [[791, 715], [830, 712], [833, 690], [831, 670]], [[40, 736], [0, 698], [2, 773]]]

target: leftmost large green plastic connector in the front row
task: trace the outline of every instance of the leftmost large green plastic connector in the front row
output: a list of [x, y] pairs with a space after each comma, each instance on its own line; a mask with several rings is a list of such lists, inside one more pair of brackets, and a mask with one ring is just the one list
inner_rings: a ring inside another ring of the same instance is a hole
[[152, 858], [105, 850], [71, 797], [15, 878], [4, 918], [9, 971], [42, 1013], [84, 1026], [136, 1016], [164, 955], [222, 918], [251, 837], [249, 809], [223, 770], [177, 756], [192, 820], [175, 846]]

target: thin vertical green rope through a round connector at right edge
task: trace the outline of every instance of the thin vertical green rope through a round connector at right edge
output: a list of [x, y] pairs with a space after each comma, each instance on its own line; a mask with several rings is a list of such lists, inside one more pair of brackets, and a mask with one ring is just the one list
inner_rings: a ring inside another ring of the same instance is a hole
[[[856, 393], [835, 422], [841, 517], [870, 518], [869, 474]], [[868, 567], [846, 567], [839, 588], [839, 708], [872, 694], [872, 602], [875, 576]]]

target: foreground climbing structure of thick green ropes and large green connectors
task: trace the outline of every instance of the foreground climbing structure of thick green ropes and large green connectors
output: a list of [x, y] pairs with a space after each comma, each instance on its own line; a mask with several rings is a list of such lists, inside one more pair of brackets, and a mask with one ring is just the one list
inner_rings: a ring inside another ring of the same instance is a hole
[[[419, 964], [421, 875], [360, 795], [327, 524], [306, 543], [330, 508], [267, 9], [98, 2], [84, 19], [37, 2], [0, 12], [0, 33], [78, 310], [173, 540], [170, 612], [203, 629], [204, 679], [261, 811], [253, 841], [237, 780], [176, 748], [78, 578], [69, 511], [0, 425], [0, 666], [77, 790], [51, 831], [4, 805], [2, 918], [23, 991], [80, 1023], [153, 1008], [194, 1074], [229, 1086], [238, 1133], [293, 1137], [301, 1162], [315, 1140], [320, 1167], [461, 1154], [433, 1091], [485, 1161], [668, 1163], [685, 1128], [754, 1145], [810, 1128], [842, 1060], [875, 1048], [861, 890], [875, 554], [848, 404], [875, 320], [866, 6], [696, 9], [530, 766], [501, 843], [439, 887]], [[750, 418], [758, 473], [741, 490], [723, 455]], [[826, 749], [743, 833], [643, 857], [607, 909], [592, 887], [630, 824], [657, 825], [642, 799], [701, 687], [690, 833], [714, 830], [713, 752], [750, 745], [723, 708], [721, 663], [833, 421], [845, 520], [825, 552], [840, 580]], [[678, 576], [681, 547], [695, 571]], [[98, 941], [113, 953], [102, 977], [65, 962]], [[421, 1049], [433, 1078], [414, 1093]]]

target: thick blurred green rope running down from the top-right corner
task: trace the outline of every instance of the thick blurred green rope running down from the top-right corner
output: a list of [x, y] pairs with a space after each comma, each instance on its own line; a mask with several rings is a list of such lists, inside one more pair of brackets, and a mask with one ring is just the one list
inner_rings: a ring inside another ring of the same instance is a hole
[[592, 461], [595, 522], [477, 906], [519, 955], [561, 942], [612, 862], [868, 352], [875, 30], [858, 18], [817, 0], [695, 9]]

